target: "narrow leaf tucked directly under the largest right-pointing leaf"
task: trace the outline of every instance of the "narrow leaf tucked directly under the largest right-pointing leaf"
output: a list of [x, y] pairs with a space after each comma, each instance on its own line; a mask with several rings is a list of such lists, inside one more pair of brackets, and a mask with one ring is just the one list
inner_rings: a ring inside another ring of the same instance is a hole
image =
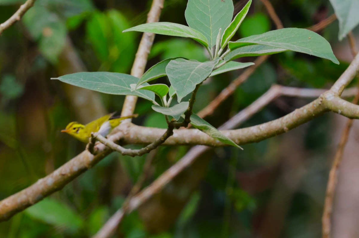
[[229, 54], [227, 54], [224, 57], [224, 59], [226, 61], [231, 61], [233, 59], [240, 57], [276, 54], [283, 51], [288, 51], [288, 50], [283, 48], [272, 47], [272, 46], [265, 46], [265, 45], [244, 46], [229, 52]]

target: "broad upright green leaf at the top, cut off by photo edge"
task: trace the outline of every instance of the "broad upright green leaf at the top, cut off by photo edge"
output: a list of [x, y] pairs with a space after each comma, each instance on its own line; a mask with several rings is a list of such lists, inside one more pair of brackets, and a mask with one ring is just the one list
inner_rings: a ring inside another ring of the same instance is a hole
[[208, 39], [209, 47], [216, 44], [219, 29], [228, 27], [233, 16], [232, 0], [188, 0], [187, 24]]

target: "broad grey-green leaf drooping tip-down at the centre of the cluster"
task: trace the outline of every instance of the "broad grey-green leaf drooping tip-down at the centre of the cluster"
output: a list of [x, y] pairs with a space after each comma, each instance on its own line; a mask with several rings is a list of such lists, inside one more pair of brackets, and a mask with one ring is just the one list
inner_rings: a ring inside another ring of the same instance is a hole
[[211, 74], [219, 59], [199, 62], [194, 59], [174, 59], [166, 67], [169, 82], [177, 92], [178, 102], [192, 92]]

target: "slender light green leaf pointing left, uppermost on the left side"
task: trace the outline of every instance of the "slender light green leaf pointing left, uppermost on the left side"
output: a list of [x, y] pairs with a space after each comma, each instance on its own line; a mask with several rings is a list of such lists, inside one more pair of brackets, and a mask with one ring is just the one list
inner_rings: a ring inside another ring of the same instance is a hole
[[172, 23], [172, 22], [152, 22], [137, 25], [136, 27], [132, 27], [130, 29], [124, 30], [123, 32], [151, 32], [155, 34], [161, 35], [172, 35], [172, 36], [179, 36], [179, 37], [189, 37], [198, 41], [203, 46], [208, 46], [208, 41], [206, 37], [199, 32], [198, 30], [192, 29], [185, 25]]

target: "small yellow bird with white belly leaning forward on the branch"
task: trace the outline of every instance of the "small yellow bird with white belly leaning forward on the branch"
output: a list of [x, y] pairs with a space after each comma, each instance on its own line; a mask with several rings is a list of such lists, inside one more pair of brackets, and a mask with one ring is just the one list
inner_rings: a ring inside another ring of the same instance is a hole
[[98, 132], [103, 137], [106, 137], [106, 135], [108, 135], [108, 133], [110, 133], [113, 128], [120, 125], [123, 119], [135, 118], [138, 116], [138, 114], [133, 114], [130, 116], [120, 117], [113, 116], [114, 114], [115, 113], [107, 114], [101, 118], [89, 122], [86, 125], [83, 125], [79, 122], [70, 122], [67, 124], [64, 130], [61, 130], [61, 132], [65, 132], [75, 137], [79, 141], [88, 143], [92, 132]]

